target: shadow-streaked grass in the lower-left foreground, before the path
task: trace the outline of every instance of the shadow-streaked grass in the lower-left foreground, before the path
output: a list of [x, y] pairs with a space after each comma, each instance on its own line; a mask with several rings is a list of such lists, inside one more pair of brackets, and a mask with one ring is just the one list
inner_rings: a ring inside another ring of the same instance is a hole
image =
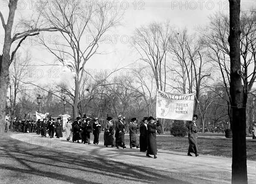
[[[101, 150], [100, 147], [98, 149]], [[83, 155], [28, 143], [10, 145], [8, 140], [1, 140], [1, 181], [12, 184], [23, 183], [24, 180], [26, 183], [37, 184], [189, 184], [173, 178], [173, 173], [170, 172], [125, 164], [122, 160], [111, 161], [102, 158], [97, 154], [99, 150]], [[26, 176], [29, 176], [29, 179]]]

